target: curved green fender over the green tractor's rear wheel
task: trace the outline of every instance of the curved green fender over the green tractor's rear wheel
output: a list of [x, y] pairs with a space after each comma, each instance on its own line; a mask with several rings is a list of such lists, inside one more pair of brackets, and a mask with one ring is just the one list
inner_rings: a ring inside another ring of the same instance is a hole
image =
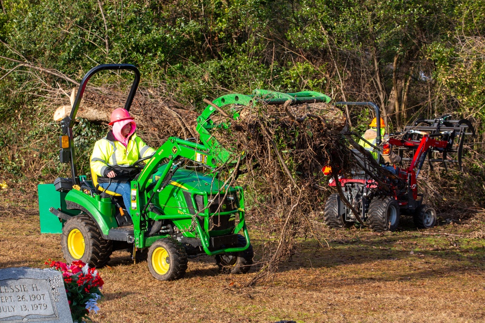
[[72, 189], [65, 196], [65, 204], [68, 210], [81, 210], [91, 216], [105, 239], [108, 239], [110, 229], [118, 227], [112, 215], [111, 199], [98, 200]]

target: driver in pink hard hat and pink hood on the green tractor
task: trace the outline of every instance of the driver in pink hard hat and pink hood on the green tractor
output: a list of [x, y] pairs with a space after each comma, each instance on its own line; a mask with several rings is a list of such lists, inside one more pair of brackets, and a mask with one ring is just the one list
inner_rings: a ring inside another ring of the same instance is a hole
[[134, 118], [125, 109], [115, 109], [109, 125], [112, 129], [106, 137], [96, 141], [91, 154], [91, 174], [93, 183], [111, 195], [121, 195], [125, 208], [130, 209], [130, 181], [140, 172], [140, 168], [130, 167], [138, 159], [155, 154], [135, 134]]

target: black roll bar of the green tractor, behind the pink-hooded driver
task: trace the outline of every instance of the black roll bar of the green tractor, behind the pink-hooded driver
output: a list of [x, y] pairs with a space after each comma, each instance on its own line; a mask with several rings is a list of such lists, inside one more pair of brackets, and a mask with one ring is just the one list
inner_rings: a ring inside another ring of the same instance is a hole
[[[81, 98], [82, 98], [82, 95], [84, 94], [84, 90], [86, 89], [87, 82], [97, 72], [104, 71], [104, 70], [129, 70], [135, 74], [135, 79], [131, 84], [131, 89], [129, 91], [128, 98], [125, 103], [125, 109], [128, 111], [129, 111], [129, 108], [131, 107], [131, 103], [133, 102], [133, 98], [135, 96], [136, 89], [138, 88], [138, 84], [140, 83], [140, 71], [138, 70], [138, 68], [136, 68], [135, 65], [132, 65], [132, 64], [101, 64], [90, 69], [86, 73], [86, 75], [84, 75], [84, 77], [82, 78], [81, 83], [79, 84], [79, 90], [76, 95], [76, 99], [74, 100], [74, 103], [72, 105], [71, 113], [68, 117], [65, 117], [61, 121], [61, 128], [62, 128], [63, 134], [69, 136], [68, 154], [69, 154], [69, 160], [71, 163], [71, 174], [72, 174], [73, 185], [79, 185], [79, 179], [77, 178], [76, 158], [74, 155], [74, 139], [73, 139], [74, 135], [72, 132], [72, 127], [74, 126], [74, 119], [76, 118], [76, 113], [78, 112], [78, 108], [81, 103]], [[61, 154], [63, 154], [62, 151], [61, 151]]]

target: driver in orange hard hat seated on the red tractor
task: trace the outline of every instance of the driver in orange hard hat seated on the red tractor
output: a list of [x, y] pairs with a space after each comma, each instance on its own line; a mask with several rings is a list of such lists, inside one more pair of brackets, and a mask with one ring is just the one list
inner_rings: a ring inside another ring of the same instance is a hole
[[[384, 123], [384, 119], [380, 118], [380, 127], [381, 127], [381, 138], [384, 138], [384, 136], [386, 135], [386, 123]], [[376, 139], [377, 139], [377, 118], [374, 118], [372, 119], [372, 122], [369, 124], [370, 126], [370, 129], [367, 129], [367, 131], [364, 133], [364, 135], [362, 136], [362, 138], [364, 138], [365, 140], [369, 141], [372, 145], [376, 145]], [[359, 140], [359, 145], [364, 147], [365, 150], [367, 150], [369, 153], [372, 154], [372, 156], [374, 157], [374, 159], [378, 162], [378, 163], [381, 163], [381, 156], [383, 157], [384, 159], [384, 162], [386, 163], [389, 163], [389, 164], [399, 164], [401, 162], [401, 156], [398, 155], [398, 154], [395, 154], [393, 153], [392, 151], [387, 150], [387, 151], [384, 151], [384, 152], [381, 152], [380, 150], [378, 149], [375, 149], [374, 147], [372, 147], [371, 145], [369, 145], [366, 141], [364, 141], [363, 139], [360, 139]], [[382, 167], [384, 167], [385, 169], [389, 170], [390, 172], [396, 174], [397, 173], [397, 169], [395, 166], [386, 166], [386, 165], [382, 165]]]

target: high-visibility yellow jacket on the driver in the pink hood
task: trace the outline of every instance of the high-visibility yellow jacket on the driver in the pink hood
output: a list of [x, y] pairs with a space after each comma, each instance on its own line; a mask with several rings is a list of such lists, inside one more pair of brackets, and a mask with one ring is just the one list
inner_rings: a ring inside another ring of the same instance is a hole
[[155, 150], [146, 145], [136, 134], [131, 135], [125, 147], [116, 140], [110, 131], [108, 135], [99, 139], [94, 144], [93, 154], [91, 154], [91, 171], [97, 176], [105, 176], [105, 171], [110, 166], [131, 166], [138, 159], [150, 156]]

